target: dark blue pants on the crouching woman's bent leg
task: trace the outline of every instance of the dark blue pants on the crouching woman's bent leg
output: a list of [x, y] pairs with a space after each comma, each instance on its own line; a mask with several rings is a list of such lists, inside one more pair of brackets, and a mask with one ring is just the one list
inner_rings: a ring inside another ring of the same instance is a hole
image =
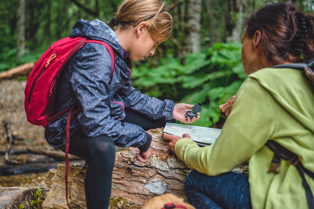
[[224, 173], [207, 176], [191, 171], [184, 182], [187, 200], [196, 209], [252, 208], [248, 176], [240, 173]]

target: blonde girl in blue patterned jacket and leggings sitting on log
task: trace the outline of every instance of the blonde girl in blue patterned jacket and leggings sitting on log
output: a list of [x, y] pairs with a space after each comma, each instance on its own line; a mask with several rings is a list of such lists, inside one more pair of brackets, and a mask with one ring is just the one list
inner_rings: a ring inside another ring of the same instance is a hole
[[[113, 63], [106, 47], [86, 43], [66, 64], [57, 87], [56, 112], [77, 103], [82, 106], [71, 120], [69, 153], [89, 163], [85, 178], [88, 208], [108, 208], [115, 145], [138, 147], [135, 158], [145, 163], [152, 155], [151, 136], [145, 130], [163, 127], [171, 119], [192, 123], [199, 118], [184, 117], [193, 105], [161, 101], [132, 87], [132, 61], [154, 55], [156, 47], [170, 36], [171, 28], [165, 2], [126, 0], [110, 23], [80, 19], [70, 33], [71, 37], [105, 41], [115, 53], [111, 74]], [[67, 114], [45, 131], [48, 143], [63, 151], [66, 120]]]

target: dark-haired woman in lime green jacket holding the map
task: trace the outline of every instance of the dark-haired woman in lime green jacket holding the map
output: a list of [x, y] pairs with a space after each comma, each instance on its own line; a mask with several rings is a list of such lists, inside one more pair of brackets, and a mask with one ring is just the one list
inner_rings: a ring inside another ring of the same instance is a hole
[[[241, 58], [248, 75], [237, 92], [221, 135], [198, 147], [188, 135], [164, 135], [176, 155], [194, 169], [185, 181], [196, 208], [308, 208], [302, 178], [289, 161], [268, 172], [274, 140], [314, 172], [314, 88], [302, 71], [270, 68], [314, 57], [314, 17], [286, 3], [273, 3], [246, 20]], [[230, 172], [249, 161], [249, 175]], [[309, 190], [314, 179], [305, 174]], [[313, 192], [312, 192], [313, 193]], [[308, 205], [309, 204], [309, 205]]]

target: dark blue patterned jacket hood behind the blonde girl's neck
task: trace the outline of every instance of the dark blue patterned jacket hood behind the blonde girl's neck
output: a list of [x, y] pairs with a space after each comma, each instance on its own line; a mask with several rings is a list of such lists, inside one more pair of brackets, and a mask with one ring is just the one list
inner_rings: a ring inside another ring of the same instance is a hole
[[71, 30], [70, 37], [86, 37], [90, 39], [105, 41], [111, 45], [111, 47], [122, 54], [123, 48], [119, 42], [119, 39], [106, 23], [95, 19], [91, 22], [88, 20], [78, 20]]

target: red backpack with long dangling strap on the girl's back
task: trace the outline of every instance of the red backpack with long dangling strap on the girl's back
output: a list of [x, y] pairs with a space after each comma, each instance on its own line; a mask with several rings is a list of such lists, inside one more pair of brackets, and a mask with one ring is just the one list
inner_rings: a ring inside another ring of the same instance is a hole
[[[63, 110], [62, 112], [53, 115], [55, 109], [55, 99], [56, 99], [56, 88], [58, 84], [58, 79], [62, 72], [63, 67], [68, 62], [73, 55], [84, 46], [85, 43], [99, 43], [108, 49], [112, 58], [112, 68], [111, 68], [111, 78], [113, 74], [114, 64], [115, 64], [115, 53], [111, 46], [103, 41], [91, 40], [87, 38], [77, 37], [77, 38], [63, 38], [51, 44], [47, 51], [41, 56], [37, 61], [34, 68], [31, 70], [28, 76], [26, 87], [25, 87], [25, 112], [27, 120], [34, 125], [42, 125], [44, 128], [46, 126], [64, 115], [66, 112], [70, 111], [67, 120], [66, 136], [67, 144], [65, 150], [66, 157], [66, 172], [65, 172], [65, 182], [66, 182], [66, 198], [68, 202], [68, 150], [70, 145], [70, 120], [71, 118], [81, 111], [78, 107], [73, 113], [72, 110], [75, 105]], [[109, 82], [110, 82], [109, 81]], [[68, 206], [69, 202], [68, 202]]]

